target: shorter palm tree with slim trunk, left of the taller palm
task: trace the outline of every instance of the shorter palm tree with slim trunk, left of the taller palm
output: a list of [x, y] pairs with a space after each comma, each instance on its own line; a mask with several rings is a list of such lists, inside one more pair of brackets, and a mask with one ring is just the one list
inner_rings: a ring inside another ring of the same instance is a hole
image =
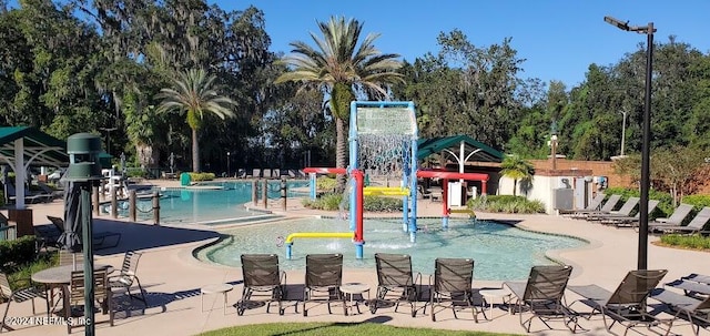
[[187, 125], [192, 130], [192, 171], [200, 172], [200, 146], [197, 130], [204, 122], [205, 113], [212, 113], [222, 120], [234, 116], [232, 99], [220, 95], [214, 88], [216, 77], [207, 75], [204, 69], [191, 69], [180, 72], [174, 79], [175, 89], [161, 89], [156, 98], [162, 99], [160, 112], [186, 111]]

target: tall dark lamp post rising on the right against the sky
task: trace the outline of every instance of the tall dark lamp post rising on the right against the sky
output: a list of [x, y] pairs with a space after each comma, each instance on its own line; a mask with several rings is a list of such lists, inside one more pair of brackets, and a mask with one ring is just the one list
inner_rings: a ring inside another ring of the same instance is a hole
[[633, 31], [646, 34], [646, 99], [643, 108], [643, 145], [641, 147], [641, 197], [639, 203], [639, 252], [638, 269], [647, 269], [648, 266], [648, 191], [650, 187], [650, 140], [651, 140], [651, 79], [653, 69], [653, 22], [647, 26], [629, 26], [611, 17], [604, 17], [604, 20], [625, 31]]

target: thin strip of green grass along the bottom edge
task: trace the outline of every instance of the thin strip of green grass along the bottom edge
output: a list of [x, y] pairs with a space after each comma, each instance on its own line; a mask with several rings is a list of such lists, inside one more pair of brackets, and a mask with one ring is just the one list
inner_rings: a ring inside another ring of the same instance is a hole
[[454, 332], [426, 328], [402, 328], [379, 323], [270, 323], [229, 327], [200, 334], [201, 336], [232, 335], [378, 335], [378, 336], [507, 336], [516, 334], [495, 334], [483, 332]]

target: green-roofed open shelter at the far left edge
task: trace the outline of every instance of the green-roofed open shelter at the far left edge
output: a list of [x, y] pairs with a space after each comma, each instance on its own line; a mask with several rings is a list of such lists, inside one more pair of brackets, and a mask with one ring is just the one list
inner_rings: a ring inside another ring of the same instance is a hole
[[24, 208], [24, 182], [30, 165], [69, 164], [67, 143], [31, 126], [0, 128], [0, 159], [14, 171], [16, 208]]

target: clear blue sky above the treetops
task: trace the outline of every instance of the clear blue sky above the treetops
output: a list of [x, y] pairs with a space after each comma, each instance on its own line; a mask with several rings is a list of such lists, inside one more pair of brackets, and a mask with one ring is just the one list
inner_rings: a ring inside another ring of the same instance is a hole
[[[568, 89], [581, 83], [589, 64], [610, 65], [639, 45], [646, 35], [626, 32], [604, 21], [605, 16], [630, 26], [653, 22], [656, 42], [676, 35], [699, 51], [710, 52], [708, 0], [209, 0], [224, 10], [250, 4], [264, 12], [271, 50], [288, 53], [290, 42], [311, 45], [316, 21], [332, 16], [357, 19], [363, 33], [379, 33], [375, 47], [413, 62], [437, 53], [439, 32], [462, 30], [479, 48], [511, 38], [525, 59], [521, 78], [562, 81]], [[364, 38], [363, 35], [363, 38]]]

